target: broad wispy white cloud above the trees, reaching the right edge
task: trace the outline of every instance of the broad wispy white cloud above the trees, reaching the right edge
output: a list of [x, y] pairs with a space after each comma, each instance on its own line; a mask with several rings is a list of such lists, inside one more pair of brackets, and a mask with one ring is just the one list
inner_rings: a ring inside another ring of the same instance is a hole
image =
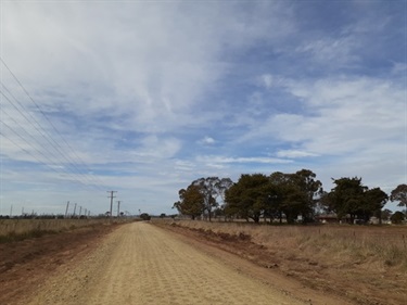
[[405, 89], [376, 78], [291, 81], [287, 90], [301, 99], [302, 114], [271, 114], [241, 141], [277, 139], [317, 154], [342, 154], [403, 138]]

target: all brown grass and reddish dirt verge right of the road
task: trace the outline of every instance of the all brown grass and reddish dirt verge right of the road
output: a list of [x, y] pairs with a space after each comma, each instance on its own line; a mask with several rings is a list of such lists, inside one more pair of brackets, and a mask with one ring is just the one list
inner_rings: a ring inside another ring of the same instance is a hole
[[203, 242], [355, 303], [407, 303], [407, 227], [186, 220], [166, 228], [188, 231]]

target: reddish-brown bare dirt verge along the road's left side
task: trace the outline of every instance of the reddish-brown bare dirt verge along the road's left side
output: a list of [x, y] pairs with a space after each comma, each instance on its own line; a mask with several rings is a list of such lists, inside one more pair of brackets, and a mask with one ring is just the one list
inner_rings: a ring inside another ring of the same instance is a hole
[[0, 244], [0, 304], [17, 304], [62, 264], [87, 255], [117, 225], [96, 226]]

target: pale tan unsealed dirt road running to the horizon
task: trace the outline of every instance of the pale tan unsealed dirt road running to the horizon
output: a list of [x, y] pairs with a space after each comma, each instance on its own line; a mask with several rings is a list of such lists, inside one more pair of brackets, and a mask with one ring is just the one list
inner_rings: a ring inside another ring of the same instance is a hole
[[132, 223], [79, 262], [60, 266], [37, 283], [30, 300], [17, 304], [344, 304], [308, 295], [295, 283], [281, 289], [284, 283], [255, 274], [255, 266], [231, 254], [204, 251], [151, 224]]

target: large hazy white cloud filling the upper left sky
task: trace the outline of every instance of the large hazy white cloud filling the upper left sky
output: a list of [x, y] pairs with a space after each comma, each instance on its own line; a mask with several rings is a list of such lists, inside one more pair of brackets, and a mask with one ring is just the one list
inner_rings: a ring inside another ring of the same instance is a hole
[[262, 26], [278, 23], [252, 23], [222, 3], [7, 3], [3, 16], [3, 56], [38, 99], [58, 88], [73, 112], [128, 114], [128, 127], [148, 131], [182, 124], [179, 113], [224, 73], [222, 53], [269, 36]]

